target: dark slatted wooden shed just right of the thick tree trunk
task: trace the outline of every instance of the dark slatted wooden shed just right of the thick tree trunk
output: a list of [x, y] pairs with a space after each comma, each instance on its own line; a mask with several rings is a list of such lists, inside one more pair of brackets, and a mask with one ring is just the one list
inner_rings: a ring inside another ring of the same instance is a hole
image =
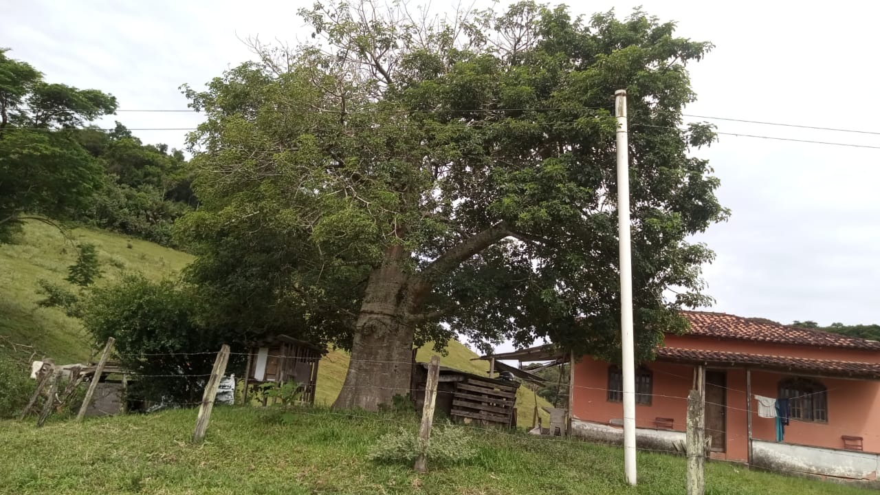
[[[428, 364], [416, 363], [411, 388], [417, 410], [422, 409], [427, 381]], [[440, 366], [435, 409], [465, 423], [512, 428], [517, 425], [517, 388], [516, 380], [493, 379]]]

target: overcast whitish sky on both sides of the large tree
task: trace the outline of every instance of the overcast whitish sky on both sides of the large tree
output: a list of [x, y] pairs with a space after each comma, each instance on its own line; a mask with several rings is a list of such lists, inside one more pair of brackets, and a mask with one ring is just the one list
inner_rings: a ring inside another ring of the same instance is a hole
[[[196, 89], [253, 55], [259, 35], [293, 44], [308, 1], [2, 0], [0, 46], [49, 81], [113, 93], [121, 109], [186, 108]], [[413, 0], [412, 4], [418, 4]], [[451, 9], [434, 0], [432, 8]], [[454, 2], [458, 4], [458, 2]], [[572, 2], [572, 4], [576, 4]], [[590, 2], [591, 14], [635, 4], [678, 34], [712, 41], [691, 66], [688, 114], [880, 132], [876, 18], [868, 2]], [[120, 112], [132, 129], [191, 128], [189, 113]], [[702, 119], [700, 119], [702, 120]], [[716, 121], [721, 132], [880, 146], [880, 136]], [[136, 131], [181, 147], [183, 131]], [[781, 322], [880, 322], [880, 149], [722, 136], [700, 151], [722, 180], [730, 221], [699, 240], [716, 311]]]

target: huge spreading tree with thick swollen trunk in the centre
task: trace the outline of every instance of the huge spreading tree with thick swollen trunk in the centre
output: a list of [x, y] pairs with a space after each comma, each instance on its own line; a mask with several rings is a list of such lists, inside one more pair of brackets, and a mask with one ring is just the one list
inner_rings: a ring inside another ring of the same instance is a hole
[[[642, 11], [589, 19], [524, 2], [444, 21], [407, 7], [316, 4], [312, 45], [253, 41], [187, 87], [199, 211], [180, 233], [217, 324], [300, 332], [351, 351], [335, 405], [406, 394], [413, 344], [544, 337], [619, 350], [612, 95], [631, 125], [642, 357], [704, 303], [718, 181], [683, 127], [686, 63], [711, 46]], [[677, 295], [664, 299], [674, 287]]]

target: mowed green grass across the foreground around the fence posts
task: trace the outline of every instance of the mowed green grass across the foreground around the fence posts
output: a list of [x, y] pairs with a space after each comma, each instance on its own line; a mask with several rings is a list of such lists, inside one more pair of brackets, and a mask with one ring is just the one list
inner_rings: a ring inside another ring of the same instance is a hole
[[[623, 477], [619, 447], [468, 429], [477, 456], [414, 473], [367, 459], [385, 433], [417, 418], [310, 409], [219, 407], [207, 441], [189, 443], [195, 410], [87, 419], [0, 422], [3, 494], [620, 495], [685, 492], [685, 458], [638, 455], [639, 484]], [[709, 462], [710, 495], [860, 495], [854, 486]]]

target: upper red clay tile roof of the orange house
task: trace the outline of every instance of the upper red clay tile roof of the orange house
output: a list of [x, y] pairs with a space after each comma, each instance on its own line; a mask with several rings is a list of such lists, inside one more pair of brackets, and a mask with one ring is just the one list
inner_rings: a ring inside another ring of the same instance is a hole
[[682, 311], [681, 313], [691, 322], [691, 335], [774, 344], [880, 351], [880, 342], [873, 340], [841, 336], [821, 330], [802, 329], [762, 318], [744, 318], [733, 314], [703, 311]]

